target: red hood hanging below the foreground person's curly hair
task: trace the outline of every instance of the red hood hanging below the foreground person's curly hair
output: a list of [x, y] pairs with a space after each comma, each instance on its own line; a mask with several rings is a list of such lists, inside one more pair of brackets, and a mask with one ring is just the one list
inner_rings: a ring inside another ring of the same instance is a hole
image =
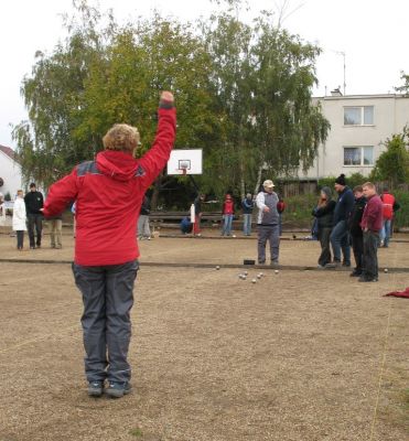
[[130, 181], [137, 170], [138, 161], [122, 151], [105, 150], [97, 154], [98, 170], [117, 181]]

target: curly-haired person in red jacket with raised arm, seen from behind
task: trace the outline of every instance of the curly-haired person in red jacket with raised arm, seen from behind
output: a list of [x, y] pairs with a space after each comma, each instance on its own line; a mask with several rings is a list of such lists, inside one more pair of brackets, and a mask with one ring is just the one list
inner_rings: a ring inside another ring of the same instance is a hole
[[95, 397], [105, 390], [119, 398], [131, 389], [128, 347], [139, 268], [137, 218], [143, 195], [166, 164], [175, 139], [170, 92], [162, 93], [158, 114], [153, 146], [141, 159], [133, 158], [138, 130], [115, 125], [104, 137], [105, 150], [53, 184], [44, 204], [44, 215], [54, 216], [76, 201], [73, 272], [84, 302], [88, 394]]

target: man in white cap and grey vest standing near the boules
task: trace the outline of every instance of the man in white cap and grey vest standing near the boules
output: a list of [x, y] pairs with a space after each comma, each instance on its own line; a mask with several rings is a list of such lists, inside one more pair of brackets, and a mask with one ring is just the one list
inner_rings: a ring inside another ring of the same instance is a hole
[[275, 184], [267, 180], [262, 183], [263, 191], [256, 197], [259, 208], [258, 225], [258, 263], [266, 263], [266, 244], [270, 243], [271, 265], [279, 265], [280, 227], [277, 204], [279, 197], [275, 192]]

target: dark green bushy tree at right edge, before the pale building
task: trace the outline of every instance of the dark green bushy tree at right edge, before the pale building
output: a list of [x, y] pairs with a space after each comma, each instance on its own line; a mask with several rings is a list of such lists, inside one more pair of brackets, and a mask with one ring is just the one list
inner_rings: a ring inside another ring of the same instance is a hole
[[384, 146], [387, 150], [377, 159], [369, 178], [388, 182], [396, 189], [398, 184], [409, 182], [409, 129], [405, 127], [402, 133], [392, 135]]

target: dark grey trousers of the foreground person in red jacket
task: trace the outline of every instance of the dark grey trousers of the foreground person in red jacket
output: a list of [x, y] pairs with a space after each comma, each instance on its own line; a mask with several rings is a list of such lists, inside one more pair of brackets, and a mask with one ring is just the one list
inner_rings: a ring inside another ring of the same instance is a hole
[[105, 267], [73, 263], [75, 283], [83, 294], [85, 374], [88, 381], [129, 381], [130, 310], [138, 260]]

